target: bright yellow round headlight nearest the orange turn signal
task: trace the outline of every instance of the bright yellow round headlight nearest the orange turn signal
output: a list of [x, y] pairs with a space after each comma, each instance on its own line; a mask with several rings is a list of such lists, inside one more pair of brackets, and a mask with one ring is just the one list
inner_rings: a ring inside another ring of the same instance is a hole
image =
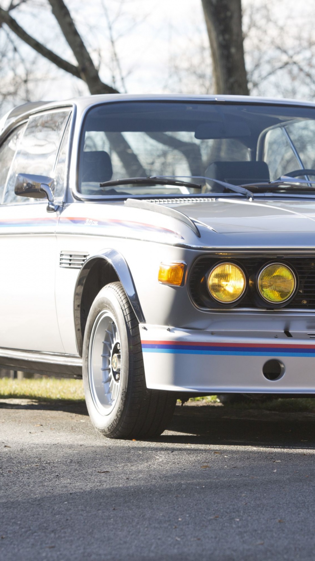
[[246, 287], [242, 269], [233, 263], [217, 265], [210, 272], [207, 283], [212, 298], [223, 304], [238, 300]]

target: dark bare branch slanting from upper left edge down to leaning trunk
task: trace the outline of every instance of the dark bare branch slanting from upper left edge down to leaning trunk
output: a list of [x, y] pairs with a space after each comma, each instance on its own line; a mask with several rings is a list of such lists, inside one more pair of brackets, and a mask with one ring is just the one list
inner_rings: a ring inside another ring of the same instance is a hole
[[76, 76], [77, 78], [81, 78], [80, 70], [77, 66], [72, 65], [70, 62], [65, 61], [63, 58], [59, 57], [58, 54], [55, 54], [52, 50], [44, 47], [41, 43], [39, 43], [34, 37], [31, 37], [20, 25], [18, 25], [17, 21], [10, 16], [6, 10], [0, 8], [0, 23], [6, 24], [13, 33], [15, 33], [18, 38], [20, 38], [24, 43], [29, 45], [29, 47], [33, 48], [41, 54], [41, 56], [47, 58], [50, 62], [54, 65], [58, 66], [62, 70]]

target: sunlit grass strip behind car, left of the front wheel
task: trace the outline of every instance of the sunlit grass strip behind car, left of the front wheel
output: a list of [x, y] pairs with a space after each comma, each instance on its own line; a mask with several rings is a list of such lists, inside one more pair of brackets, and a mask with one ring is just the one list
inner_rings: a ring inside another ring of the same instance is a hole
[[82, 380], [38, 378], [0, 379], [0, 399], [26, 398], [39, 401], [84, 401]]

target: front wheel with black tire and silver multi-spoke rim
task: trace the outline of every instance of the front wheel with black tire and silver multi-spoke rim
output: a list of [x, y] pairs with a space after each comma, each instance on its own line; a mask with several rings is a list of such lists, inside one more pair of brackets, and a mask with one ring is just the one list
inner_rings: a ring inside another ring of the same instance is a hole
[[83, 381], [87, 410], [108, 438], [158, 436], [172, 419], [172, 392], [146, 388], [139, 325], [120, 282], [96, 296], [86, 321]]

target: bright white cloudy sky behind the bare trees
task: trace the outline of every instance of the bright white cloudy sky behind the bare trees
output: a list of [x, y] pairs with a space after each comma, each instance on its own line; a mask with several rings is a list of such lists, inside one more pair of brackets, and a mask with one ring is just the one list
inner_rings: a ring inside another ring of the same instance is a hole
[[[197, 53], [200, 43], [209, 45], [201, 0], [81, 0], [80, 3], [66, 0], [66, 3], [94, 61], [100, 61], [101, 79], [113, 84], [114, 73], [114, 86], [119, 91], [163, 93], [174, 89], [174, 66], [184, 65], [185, 58]], [[0, 0], [1, 7], [6, 8], [7, 4], [8, 0]], [[297, 26], [303, 27], [308, 16], [309, 19], [314, 16], [313, 0], [243, 0], [244, 17], [248, 7], [258, 8], [261, 4], [270, 7], [275, 20], [286, 22], [288, 40]], [[29, 0], [14, 10], [12, 16], [36, 39], [75, 63], [48, 2]], [[117, 64], [113, 64], [108, 21], [112, 25], [123, 80], [119, 79]], [[268, 49], [267, 42], [265, 48]], [[21, 47], [21, 50], [25, 58], [34, 57], [31, 49]], [[210, 61], [209, 54], [208, 58]], [[209, 61], [205, 66], [210, 65]], [[81, 80], [66, 76], [41, 57], [37, 59], [33, 77], [35, 99], [67, 99], [88, 94]]]

